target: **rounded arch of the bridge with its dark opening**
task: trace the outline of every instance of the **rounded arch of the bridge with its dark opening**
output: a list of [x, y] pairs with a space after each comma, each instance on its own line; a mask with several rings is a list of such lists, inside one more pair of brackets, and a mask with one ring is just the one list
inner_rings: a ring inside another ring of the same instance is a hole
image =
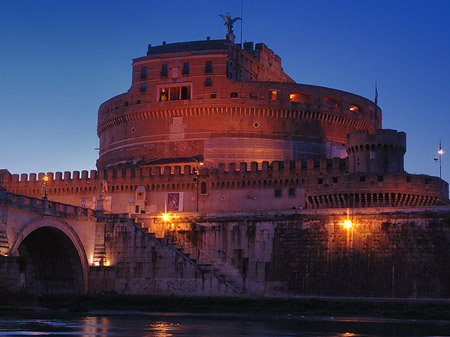
[[88, 291], [86, 252], [75, 230], [61, 219], [43, 216], [25, 224], [9, 254], [23, 258], [25, 286], [32, 293]]

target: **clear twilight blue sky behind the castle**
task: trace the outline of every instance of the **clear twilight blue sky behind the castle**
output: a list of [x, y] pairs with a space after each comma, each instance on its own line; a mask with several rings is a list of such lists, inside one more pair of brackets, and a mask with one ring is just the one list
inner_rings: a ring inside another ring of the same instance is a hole
[[[0, 0], [0, 168], [95, 169], [97, 109], [125, 92], [131, 60], [226, 33], [241, 1]], [[237, 40], [240, 24], [235, 27]], [[374, 99], [407, 133], [405, 168], [450, 179], [450, 1], [245, 0], [243, 40], [264, 42], [299, 83]]]

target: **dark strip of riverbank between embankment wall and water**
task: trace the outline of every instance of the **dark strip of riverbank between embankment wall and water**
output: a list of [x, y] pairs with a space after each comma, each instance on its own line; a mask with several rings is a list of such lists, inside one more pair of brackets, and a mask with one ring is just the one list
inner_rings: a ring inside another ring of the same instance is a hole
[[0, 311], [248, 314], [288, 318], [333, 317], [450, 321], [449, 300], [351, 298], [250, 298], [156, 295], [0, 294]]

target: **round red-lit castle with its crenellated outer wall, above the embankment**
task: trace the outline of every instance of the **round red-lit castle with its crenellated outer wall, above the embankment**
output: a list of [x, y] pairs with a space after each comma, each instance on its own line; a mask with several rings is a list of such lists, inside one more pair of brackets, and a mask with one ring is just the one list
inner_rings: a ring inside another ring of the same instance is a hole
[[[431, 206], [448, 184], [405, 172], [406, 135], [375, 103], [295, 83], [260, 43], [149, 45], [131, 88], [98, 111], [97, 171], [47, 173], [48, 198], [114, 213]], [[2, 171], [9, 191], [41, 195], [44, 173]]]

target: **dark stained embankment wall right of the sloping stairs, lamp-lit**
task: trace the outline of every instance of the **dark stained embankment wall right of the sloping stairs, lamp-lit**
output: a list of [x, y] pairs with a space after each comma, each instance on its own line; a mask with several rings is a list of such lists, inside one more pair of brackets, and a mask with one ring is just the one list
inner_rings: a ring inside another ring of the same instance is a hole
[[172, 237], [252, 295], [450, 297], [448, 210], [364, 213], [174, 220]]

